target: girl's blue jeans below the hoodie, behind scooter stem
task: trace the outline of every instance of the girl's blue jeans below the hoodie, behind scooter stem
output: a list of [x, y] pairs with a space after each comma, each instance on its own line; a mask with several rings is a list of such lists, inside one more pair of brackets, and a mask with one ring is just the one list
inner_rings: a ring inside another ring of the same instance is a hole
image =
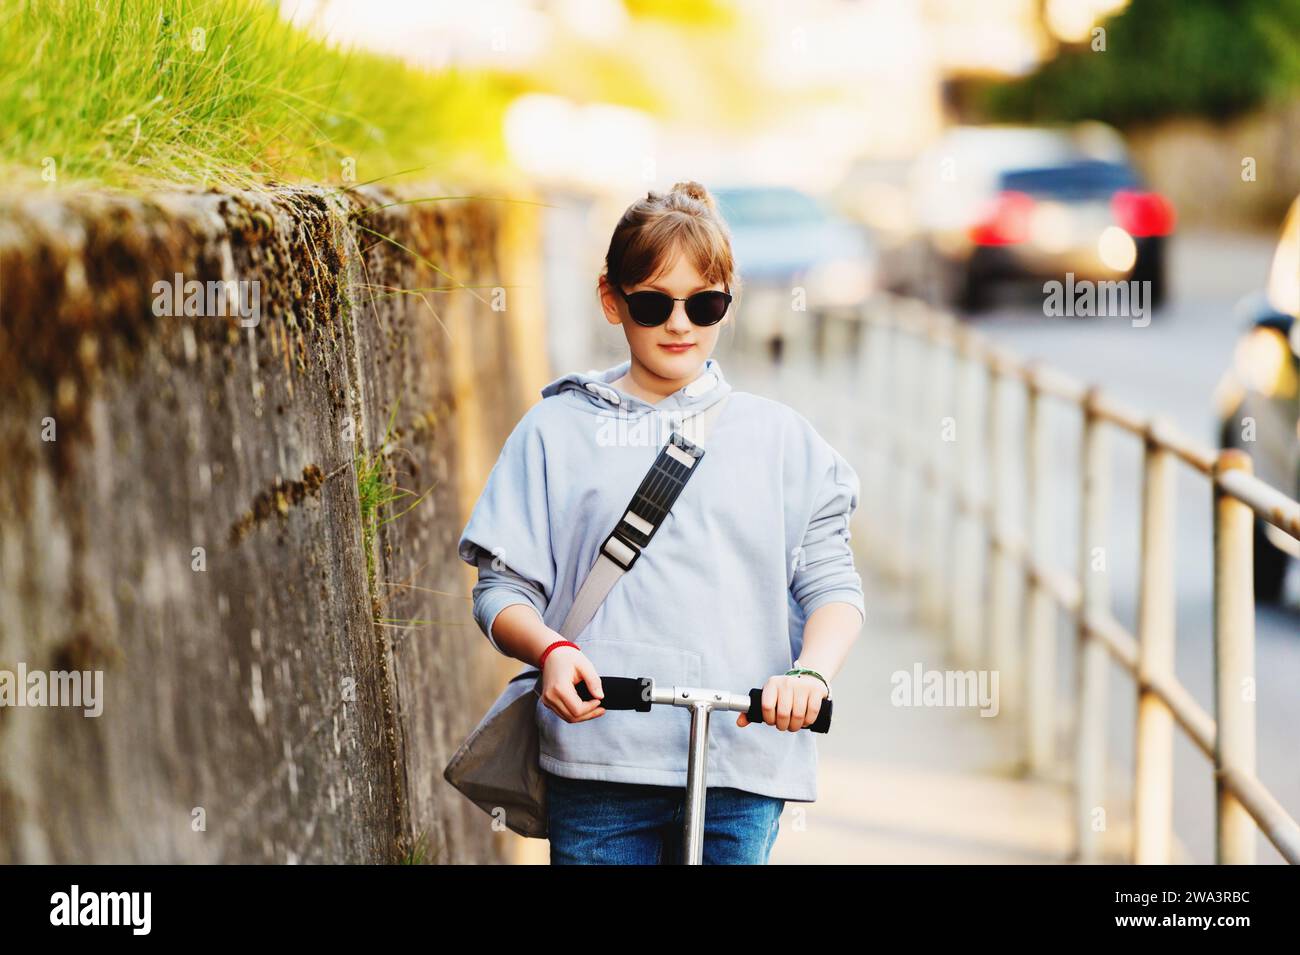
[[[686, 790], [546, 773], [551, 865], [680, 865]], [[766, 865], [784, 799], [710, 786], [705, 865]]]

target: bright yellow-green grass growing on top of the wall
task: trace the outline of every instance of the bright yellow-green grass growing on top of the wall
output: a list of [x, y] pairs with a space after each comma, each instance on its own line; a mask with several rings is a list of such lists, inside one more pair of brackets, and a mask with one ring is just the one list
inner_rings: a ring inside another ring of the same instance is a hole
[[503, 161], [515, 81], [347, 52], [260, 0], [0, 0], [10, 182], [252, 187]]

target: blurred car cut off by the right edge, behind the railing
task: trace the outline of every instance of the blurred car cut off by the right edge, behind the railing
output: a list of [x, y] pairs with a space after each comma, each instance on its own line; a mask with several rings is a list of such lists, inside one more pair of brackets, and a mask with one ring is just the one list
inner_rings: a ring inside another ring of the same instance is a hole
[[[1216, 390], [1219, 443], [1247, 451], [1260, 479], [1300, 498], [1300, 196], [1291, 204], [1268, 287], [1242, 301], [1245, 331]], [[1254, 528], [1254, 596], [1282, 596], [1300, 544], [1270, 524]]]

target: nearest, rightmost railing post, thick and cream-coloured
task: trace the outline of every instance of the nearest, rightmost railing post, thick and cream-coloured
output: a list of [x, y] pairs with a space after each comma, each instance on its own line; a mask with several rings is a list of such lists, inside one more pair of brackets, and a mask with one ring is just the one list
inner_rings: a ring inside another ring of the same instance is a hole
[[1216, 860], [1254, 864], [1254, 820], [1223, 783], [1223, 770], [1254, 774], [1254, 512], [1223, 492], [1218, 477], [1252, 472], [1238, 450], [1214, 464], [1214, 743]]

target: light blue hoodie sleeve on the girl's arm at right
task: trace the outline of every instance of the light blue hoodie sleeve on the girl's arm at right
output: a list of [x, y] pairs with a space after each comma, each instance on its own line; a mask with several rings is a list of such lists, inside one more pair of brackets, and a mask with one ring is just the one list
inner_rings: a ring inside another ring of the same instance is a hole
[[827, 464], [793, 561], [790, 594], [805, 618], [823, 604], [840, 600], [853, 604], [866, 622], [862, 577], [854, 568], [849, 547], [849, 517], [858, 505], [861, 491], [858, 476], [835, 448], [824, 442], [822, 447]]

